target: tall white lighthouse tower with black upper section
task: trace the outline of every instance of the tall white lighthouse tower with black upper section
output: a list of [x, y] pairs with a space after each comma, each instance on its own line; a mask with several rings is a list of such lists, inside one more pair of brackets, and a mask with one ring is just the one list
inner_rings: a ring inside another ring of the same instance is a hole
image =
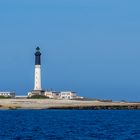
[[34, 78], [34, 90], [41, 91], [41, 52], [40, 48], [36, 48], [35, 52], [35, 78]]

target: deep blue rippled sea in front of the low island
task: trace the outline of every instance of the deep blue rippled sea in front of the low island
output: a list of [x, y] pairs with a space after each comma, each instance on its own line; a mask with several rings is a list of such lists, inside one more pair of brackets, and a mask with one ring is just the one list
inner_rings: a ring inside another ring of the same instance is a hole
[[0, 140], [140, 140], [140, 111], [1, 110]]

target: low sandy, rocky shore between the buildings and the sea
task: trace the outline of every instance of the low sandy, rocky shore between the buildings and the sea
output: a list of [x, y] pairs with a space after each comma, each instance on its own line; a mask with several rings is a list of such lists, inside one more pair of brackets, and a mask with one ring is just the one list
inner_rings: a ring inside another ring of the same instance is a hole
[[55, 99], [0, 99], [0, 109], [139, 110], [140, 103]]

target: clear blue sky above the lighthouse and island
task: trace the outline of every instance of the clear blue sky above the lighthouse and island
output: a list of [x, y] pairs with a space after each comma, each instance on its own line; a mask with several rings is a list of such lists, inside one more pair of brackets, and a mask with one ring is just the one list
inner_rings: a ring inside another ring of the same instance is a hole
[[0, 90], [42, 88], [88, 98], [140, 101], [139, 0], [1, 0]]

